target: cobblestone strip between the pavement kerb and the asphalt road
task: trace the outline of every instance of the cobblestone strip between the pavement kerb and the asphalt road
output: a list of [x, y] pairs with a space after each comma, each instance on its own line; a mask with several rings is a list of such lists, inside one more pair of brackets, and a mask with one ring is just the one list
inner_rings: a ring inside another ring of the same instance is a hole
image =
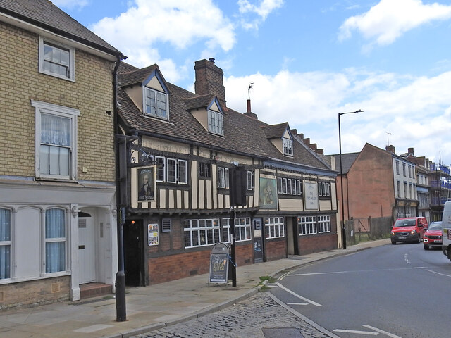
[[294, 327], [306, 338], [330, 337], [280, 306], [266, 292], [258, 292], [240, 303], [215, 313], [140, 334], [135, 338], [264, 338], [262, 329], [276, 327]]

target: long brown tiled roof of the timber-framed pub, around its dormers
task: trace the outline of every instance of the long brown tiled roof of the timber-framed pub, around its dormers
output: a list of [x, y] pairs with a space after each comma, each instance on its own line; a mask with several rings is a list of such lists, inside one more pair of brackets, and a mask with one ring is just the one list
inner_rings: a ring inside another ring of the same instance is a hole
[[[121, 69], [121, 68], [120, 68]], [[166, 82], [171, 92], [169, 96], [169, 122], [145, 116], [133, 104], [121, 88], [118, 89], [119, 112], [130, 130], [137, 130], [150, 136], [173, 139], [191, 144], [201, 144], [218, 151], [229, 151], [257, 158], [271, 158], [314, 168], [330, 170], [326, 162], [300, 142], [293, 142], [294, 156], [283, 156], [268, 139], [269, 136], [281, 137], [288, 123], [268, 125], [247, 115], [224, 109], [224, 134], [219, 136], [206, 131], [199, 121], [190, 113], [194, 106], [206, 106], [214, 95], [199, 96]]]

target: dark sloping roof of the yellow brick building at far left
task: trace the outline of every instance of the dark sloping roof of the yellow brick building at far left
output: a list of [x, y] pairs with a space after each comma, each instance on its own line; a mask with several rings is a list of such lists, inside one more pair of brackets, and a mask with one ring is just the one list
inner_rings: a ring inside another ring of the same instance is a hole
[[74, 39], [108, 54], [121, 56], [121, 51], [111, 46], [77, 20], [48, 0], [0, 0], [0, 13], [23, 20], [57, 35]]

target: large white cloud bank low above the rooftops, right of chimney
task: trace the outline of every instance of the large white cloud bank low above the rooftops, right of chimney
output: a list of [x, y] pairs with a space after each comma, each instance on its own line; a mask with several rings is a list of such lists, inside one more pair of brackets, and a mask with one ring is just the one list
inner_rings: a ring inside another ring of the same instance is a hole
[[[290, 127], [338, 154], [338, 113], [342, 116], [342, 151], [360, 151], [366, 142], [385, 149], [387, 134], [397, 154], [414, 147], [417, 156], [451, 164], [451, 72], [435, 77], [410, 77], [351, 69], [345, 73], [257, 73], [227, 77], [227, 104], [246, 111], [247, 87], [252, 112], [259, 120]], [[360, 99], [360, 98], [365, 99]], [[450, 162], [450, 163], [447, 163]]]

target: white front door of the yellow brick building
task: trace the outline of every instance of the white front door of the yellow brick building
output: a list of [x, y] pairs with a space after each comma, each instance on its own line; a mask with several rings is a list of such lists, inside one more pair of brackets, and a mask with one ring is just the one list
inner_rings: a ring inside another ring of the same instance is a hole
[[93, 217], [78, 218], [80, 284], [96, 281], [95, 231]]

